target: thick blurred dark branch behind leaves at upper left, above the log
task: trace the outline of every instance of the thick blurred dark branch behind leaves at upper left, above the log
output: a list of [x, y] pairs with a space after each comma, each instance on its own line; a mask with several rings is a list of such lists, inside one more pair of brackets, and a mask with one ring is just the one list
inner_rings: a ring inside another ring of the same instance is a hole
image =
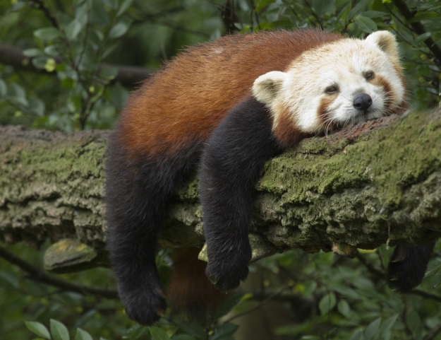
[[[63, 62], [60, 57], [54, 58], [57, 63]], [[55, 71], [48, 72], [45, 70], [37, 69], [32, 64], [32, 57], [26, 57], [23, 54], [23, 49], [15, 46], [1, 44], [0, 43], [0, 64], [8, 64], [16, 69], [23, 69], [25, 71], [32, 71], [41, 74], [56, 74]], [[116, 65], [116, 64], [99, 64], [98, 68], [103, 69], [104, 67], [114, 67], [118, 70], [114, 81], [119, 81], [123, 86], [133, 87], [138, 86], [139, 83], [151, 76], [155, 70], [146, 69], [144, 67], [138, 66], [126, 66], [126, 65]]]

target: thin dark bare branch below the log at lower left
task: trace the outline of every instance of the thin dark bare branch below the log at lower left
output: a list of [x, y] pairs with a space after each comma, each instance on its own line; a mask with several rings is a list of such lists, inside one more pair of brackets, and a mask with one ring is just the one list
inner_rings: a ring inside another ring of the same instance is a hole
[[111, 298], [111, 299], [119, 298], [117, 291], [111, 291], [109, 289], [100, 289], [100, 288], [93, 288], [87, 286], [79, 286], [70, 283], [68, 281], [56, 279], [52, 276], [44, 274], [42, 271], [40, 271], [40, 269], [37, 269], [35, 266], [32, 266], [32, 264], [26, 262], [23, 259], [20, 259], [20, 257], [17, 257], [13, 253], [8, 252], [8, 250], [6, 250], [4, 247], [0, 247], [0, 257], [3, 257], [6, 261], [18, 266], [20, 269], [28, 273], [31, 279], [35, 281], [40, 281], [42, 283], [46, 283], [56, 288], [60, 288], [63, 291], [73, 291], [83, 295], [95, 295], [95, 296], [101, 296], [103, 298]]

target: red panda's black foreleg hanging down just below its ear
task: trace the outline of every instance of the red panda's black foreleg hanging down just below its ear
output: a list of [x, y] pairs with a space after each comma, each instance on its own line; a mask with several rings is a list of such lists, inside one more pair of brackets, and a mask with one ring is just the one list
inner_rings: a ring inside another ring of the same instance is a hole
[[265, 161], [281, 151], [270, 112], [254, 98], [234, 107], [206, 143], [200, 165], [206, 274], [219, 289], [236, 288], [248, 276], [253, 190]]

